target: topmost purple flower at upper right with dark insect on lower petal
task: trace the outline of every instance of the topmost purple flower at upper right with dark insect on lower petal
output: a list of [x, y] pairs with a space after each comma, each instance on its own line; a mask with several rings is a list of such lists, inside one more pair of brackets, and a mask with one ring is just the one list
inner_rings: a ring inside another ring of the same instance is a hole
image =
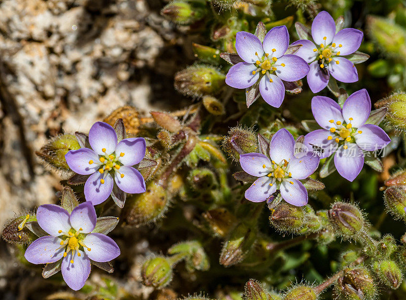
[[310, 64], [307, 76], [313, 93], [324, 89], [330, 74], [341, 82], [358, 81], [358, 72], [347, 58], [343, 57], [357, 51], [362, 42], [363, 33], [354, 28], [344, 28], [335, 33], [335, 23], [329, 13], [320, 12], [312, 24], [313, 41], [299, 40], [292, 45], [300, 44], [295, 55]]

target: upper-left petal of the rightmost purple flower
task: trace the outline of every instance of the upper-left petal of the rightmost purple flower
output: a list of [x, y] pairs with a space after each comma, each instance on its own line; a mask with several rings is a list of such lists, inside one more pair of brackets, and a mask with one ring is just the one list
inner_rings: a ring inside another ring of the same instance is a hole
[[[344, 122], [340, 105], [333, 99], [315, 96], [312, 99], [312, 113], [316, 122], [325, 129], [337, 128], [337, 121]], [[330, 122], [333, 120], [333, 122]]]

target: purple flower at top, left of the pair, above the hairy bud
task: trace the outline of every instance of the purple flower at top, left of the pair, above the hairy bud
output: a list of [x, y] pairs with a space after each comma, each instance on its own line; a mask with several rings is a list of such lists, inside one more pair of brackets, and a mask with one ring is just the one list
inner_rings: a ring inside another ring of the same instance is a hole
[[252, 33], [236, 34], [235, 49], [243, 62], [233, 65], [225, 82], [237, 89], [246, 89], [259, 82], [262, 98], [271, 106], [279, 107], [285, 97], [282, 81], [302, 79], [309, 66], [298, 56], [285, 54], [289, 46], [286, 26], [278, 26], [266, 33], [263, 43]]

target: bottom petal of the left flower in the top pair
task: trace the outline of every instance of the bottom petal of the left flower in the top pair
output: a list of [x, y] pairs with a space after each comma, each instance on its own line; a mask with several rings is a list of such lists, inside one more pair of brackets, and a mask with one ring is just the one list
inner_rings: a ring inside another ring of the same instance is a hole
[[285, 86], [282, 80], [274, 74], [269, 77], [272, 82], [267, 76], [262, 77], [259, 82], [259, 92], [266, 103], [270, 106], [279, 107], [285, 98]]

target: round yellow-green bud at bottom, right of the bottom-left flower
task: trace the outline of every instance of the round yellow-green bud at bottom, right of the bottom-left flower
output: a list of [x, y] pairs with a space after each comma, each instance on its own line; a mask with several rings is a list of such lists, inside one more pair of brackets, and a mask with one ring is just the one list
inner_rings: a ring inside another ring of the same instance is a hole
[[163, 256], [148, 258], [141, 269], [144, 285], [162, 288], [172, 280], [172, 266]]

